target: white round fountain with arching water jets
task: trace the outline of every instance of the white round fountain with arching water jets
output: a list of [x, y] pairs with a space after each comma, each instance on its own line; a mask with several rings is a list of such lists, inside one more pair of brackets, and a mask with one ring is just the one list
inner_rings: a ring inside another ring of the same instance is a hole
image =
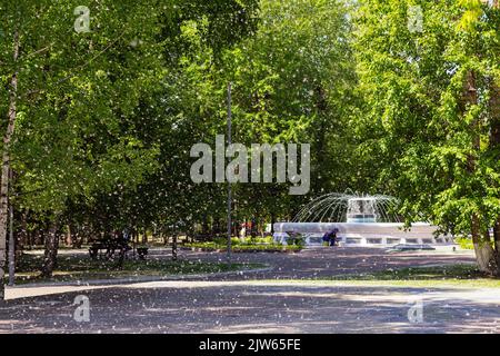
[[397, 200], [389, 196], [329, 194], [306, 207], [291, 222], [274, 224], [274, 241], [286, 244], [290, 234], [301, 234], [308, 246], [322, 245], [327, 231], [337, 229], [341, 246], [394, 246], [452, 244], [451, 237], [437, 236], [427, 222], [404, 229], [396, 214]]

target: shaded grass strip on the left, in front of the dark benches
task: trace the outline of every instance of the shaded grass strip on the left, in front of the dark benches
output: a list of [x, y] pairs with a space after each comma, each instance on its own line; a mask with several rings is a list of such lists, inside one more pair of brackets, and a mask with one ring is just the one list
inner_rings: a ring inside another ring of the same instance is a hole
[[120, 268], [117, 261], [92, 260], [88, 256], [59, 256], [58, 266], [50, 279], [40, 277], [43, 256], [26, 254], [16, 270], [16, 283], [72, 281], [86, 279], [113, 279], [134, 276], [167, 276], [213, 274], [266, 267], [261, 264], [224, 264], [188, 260], [127, 259]]

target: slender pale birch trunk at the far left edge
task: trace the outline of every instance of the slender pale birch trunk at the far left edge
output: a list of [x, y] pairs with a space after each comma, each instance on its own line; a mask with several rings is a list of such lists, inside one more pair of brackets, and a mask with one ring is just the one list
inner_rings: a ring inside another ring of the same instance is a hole
[[[13, 38], [13, 61], [19, 58], [19, 32], [16, 30]], [[16, 70], [10, 80], [10, 103], [7, 131], [3, 137], [2, 169], [0, 184], [0, 300], [4, 300], [6, 275], [6, 245], [7, 245], [7, 222], [9, 216], [9, 171], [10, 171], [10, 144], [14, 130], [17, 116], [17, 96], [18, 96], [18, 71]]]

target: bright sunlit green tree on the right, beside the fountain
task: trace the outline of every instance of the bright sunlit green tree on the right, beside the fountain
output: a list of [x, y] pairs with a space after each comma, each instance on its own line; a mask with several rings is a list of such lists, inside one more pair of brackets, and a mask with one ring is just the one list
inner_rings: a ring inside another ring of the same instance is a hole
[[497, 275], [489, 229], [500, 212], [491, 136], [499, 19], [498, 3], [479, 0], [366, 0], [357, 21], [360, 122], [383, 162], [380, 186], [402, 199], [409, 222], [427, 219], [442, 233], [471, 235], [479, 267]]

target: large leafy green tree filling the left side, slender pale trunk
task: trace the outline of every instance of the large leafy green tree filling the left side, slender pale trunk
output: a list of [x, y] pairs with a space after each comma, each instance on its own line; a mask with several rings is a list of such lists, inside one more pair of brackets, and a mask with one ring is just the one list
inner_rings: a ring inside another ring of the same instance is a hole
[[[0, 299], [9, 170], [18, 172], [20, 204], [54, 220], [72, 197], [91, 201], [97, 191], [133, 189], [158, 168], [160, 150], [157, 142], [141, 140], [140, 127], [127, 130], [123, 123], [163, 89], [176, 31], [188, 21], [208, 24], [202, 39], [220, 50], [222, 42], [243, 36], [256, 9], [253, 0], [0, 4], [0, 79], [6, 85], [0, 112], [8, 118], [2, 126]], [[50, 236], [57, 238], [57, 231]], [[57, 249], [57, 244], [47, 246]], [[56, 254], [48, 256], [50, 275]]]

